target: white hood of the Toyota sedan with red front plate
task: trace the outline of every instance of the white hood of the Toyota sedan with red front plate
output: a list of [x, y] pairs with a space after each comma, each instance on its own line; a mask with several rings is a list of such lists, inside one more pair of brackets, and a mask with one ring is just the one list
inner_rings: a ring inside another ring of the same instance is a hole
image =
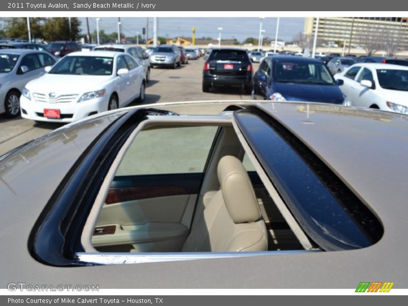
[[46, 73], [25, 87], [38, 93], [72, 94], [104, 89], [112, 75], [71, 75]]

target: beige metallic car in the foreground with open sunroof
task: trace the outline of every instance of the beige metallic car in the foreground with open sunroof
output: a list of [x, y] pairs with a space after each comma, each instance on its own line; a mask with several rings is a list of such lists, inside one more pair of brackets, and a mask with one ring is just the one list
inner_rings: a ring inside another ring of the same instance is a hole
[[67, 124], [0, 158], [0, 286], [407, 288], [406, 119], [184, 101]]

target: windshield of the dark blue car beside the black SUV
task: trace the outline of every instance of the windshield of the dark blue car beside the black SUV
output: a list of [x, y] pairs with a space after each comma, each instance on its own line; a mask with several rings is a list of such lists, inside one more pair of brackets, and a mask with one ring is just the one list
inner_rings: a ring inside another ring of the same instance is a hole
[[335, 80], [323, 63], [275, 62], [273, 68], [275, 82], [333, 85]]

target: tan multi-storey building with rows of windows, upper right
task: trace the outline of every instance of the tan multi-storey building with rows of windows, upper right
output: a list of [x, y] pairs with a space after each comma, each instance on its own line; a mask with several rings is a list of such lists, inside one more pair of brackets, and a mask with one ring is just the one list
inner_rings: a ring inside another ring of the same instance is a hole
[[[316, 17], [304, 22], [306, 35], [314, 35]], [[398, 33], [408, 43], [408, 17], [320, 17], [318, 39], [325, 42], [359, 46], [367, 33]], [[386, 34], [384, 34], [386, 35]]]

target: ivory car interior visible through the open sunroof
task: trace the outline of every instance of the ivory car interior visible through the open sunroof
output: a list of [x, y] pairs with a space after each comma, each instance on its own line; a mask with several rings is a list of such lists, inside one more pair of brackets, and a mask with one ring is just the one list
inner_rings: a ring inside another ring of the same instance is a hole
[[231, 122], [147, 124], [128, 141], [87, 252], [304, 250]]

